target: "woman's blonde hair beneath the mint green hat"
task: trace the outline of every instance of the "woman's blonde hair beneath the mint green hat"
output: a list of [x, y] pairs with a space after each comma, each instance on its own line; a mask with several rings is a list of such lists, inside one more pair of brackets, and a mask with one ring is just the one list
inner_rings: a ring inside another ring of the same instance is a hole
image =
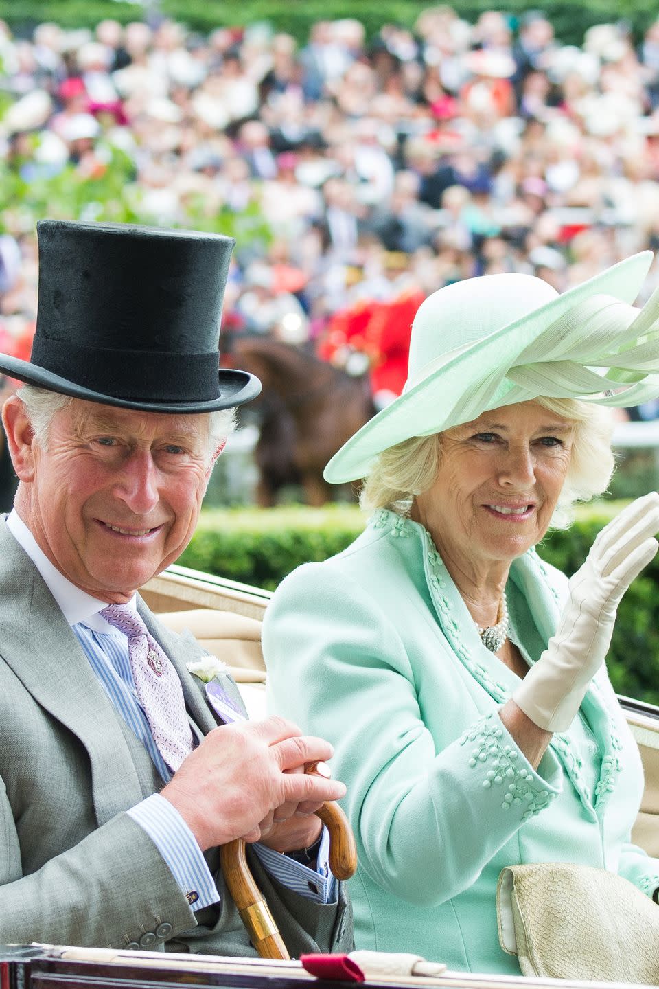
[[[564, 529], [573, 520], [572, 506], [589, 501], [609, 487], [615, 461], [611, 449], [613, 418], [601, 405], [576, 399], [534, 400], [574, 423], [572, 455], [565, 484], [551, 519], [551, 527]], [[367, 511], [390, 508], [406, 514], [417, 494], [435, 482], [442, 460], [442, 433], [412, 436], [379, 454], [366, 478], [360, 505]]]

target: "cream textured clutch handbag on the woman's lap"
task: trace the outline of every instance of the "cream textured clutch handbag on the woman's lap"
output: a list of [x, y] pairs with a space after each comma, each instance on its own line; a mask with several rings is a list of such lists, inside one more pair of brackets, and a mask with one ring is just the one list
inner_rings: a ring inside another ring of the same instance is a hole
[[659, 906], [613, 872], [511, 865], [497, 883], [497, 921], [524, 975], [659, 985]]

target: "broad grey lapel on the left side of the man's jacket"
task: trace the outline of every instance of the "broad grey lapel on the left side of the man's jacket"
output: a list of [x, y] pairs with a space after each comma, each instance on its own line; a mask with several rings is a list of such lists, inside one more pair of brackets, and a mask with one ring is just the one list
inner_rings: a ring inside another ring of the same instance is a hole
[[[119, 715], [28, 555], [0, 521], [2, 659], [87, 750], [99, 825], [142, 798]], [[49, 754], [47, 758], [62, 758]]]

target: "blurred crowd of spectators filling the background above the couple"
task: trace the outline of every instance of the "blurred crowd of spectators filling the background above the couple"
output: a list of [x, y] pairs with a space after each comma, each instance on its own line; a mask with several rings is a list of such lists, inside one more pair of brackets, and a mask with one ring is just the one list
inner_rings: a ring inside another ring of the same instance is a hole
[[[29, 39], [0, 25], [0, 59], [6, 170], [94, 182], [121, 152], [143, 222], [191, 225], [193, 206], [257, 218], [227, 332], [370, 369], [378, 405], [402, 386], [429, 292], [501, 271], [562, 291], [659, 243], [659, 21], [640, 44], [620, 23], [581, 46], [539, 10], [469, 24], [448, 6], [374, 39], [318, 22], [301, 45], [267, 24], [41, 24]], [[25, 356], [38, 218], [3, 207], [0, 348]], [[108, 204], [83, 212], [108, 219]]]

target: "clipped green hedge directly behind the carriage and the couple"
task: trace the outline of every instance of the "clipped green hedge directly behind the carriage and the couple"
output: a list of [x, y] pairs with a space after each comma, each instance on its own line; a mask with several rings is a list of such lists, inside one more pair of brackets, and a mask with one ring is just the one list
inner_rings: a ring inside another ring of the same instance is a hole
[[[620, 503], [582, 508], [566, 532], [552, 532], [538, 547], [548, 563], [571, 575], [595, 535]], [[179, 563], [245, 584], [274, 589], [294, 567], [325, 560], [348, 546], [364, 527], [352, 505], [210, 509]], [[618, 608], [609, 672], [618, 693], [659, 704], [659, 559], [631, 585]]]

